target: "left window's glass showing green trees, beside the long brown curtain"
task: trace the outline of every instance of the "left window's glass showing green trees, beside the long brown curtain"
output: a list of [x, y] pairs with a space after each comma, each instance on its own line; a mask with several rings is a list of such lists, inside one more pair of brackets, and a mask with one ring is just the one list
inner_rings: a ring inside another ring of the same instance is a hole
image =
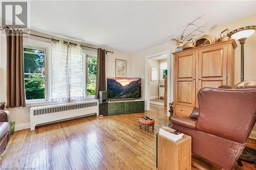
[[46, 49], [24, 47], [26, 100], [46, 100]]

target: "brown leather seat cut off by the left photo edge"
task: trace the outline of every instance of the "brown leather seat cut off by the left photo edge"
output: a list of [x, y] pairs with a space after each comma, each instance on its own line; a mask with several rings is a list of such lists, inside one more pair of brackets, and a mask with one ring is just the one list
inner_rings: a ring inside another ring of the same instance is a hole
[[3, 153], [10, 139], [10, 114], [7, 110], [0, 110], [0, 155]]

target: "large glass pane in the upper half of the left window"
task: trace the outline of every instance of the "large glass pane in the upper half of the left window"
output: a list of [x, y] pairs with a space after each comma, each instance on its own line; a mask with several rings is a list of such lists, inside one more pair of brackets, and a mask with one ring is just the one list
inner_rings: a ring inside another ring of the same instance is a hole
[[45, 73], [45, 56], [24, 53], [25, 73]]

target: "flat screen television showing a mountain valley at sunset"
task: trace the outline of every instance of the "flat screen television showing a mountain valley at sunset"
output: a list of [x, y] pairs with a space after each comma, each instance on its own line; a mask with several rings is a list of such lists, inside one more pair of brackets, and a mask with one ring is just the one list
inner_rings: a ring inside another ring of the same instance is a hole
[[141, 78], [107, 78], [109, 99], [141, 98]]

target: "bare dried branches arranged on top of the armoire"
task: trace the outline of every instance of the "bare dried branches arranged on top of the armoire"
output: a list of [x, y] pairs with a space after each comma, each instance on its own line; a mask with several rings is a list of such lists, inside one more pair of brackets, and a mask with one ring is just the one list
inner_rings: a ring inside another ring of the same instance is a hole
[[170, 36], [171, 43], [180, 46], [181, 43], [188, 42], [196, 36], [204, 33], [203, 28], [206, 27], [208, 22], [205, 22], [203, 25], [200, 26], [198, 26], [196, 23], [198, 20], [202, 18], [203, 15], [196, 17], [192, 21], [188, 22], [180, 36]]

